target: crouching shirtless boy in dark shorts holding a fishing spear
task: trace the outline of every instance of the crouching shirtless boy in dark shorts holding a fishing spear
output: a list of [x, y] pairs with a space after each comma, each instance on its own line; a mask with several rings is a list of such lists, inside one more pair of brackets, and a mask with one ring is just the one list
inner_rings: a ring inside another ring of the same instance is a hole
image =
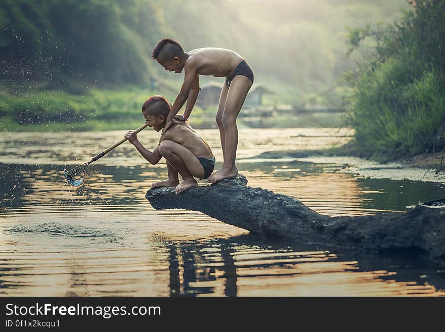
[[[156, 131], [165, 128], [169, 111], [170, 106], [162, 96], [153, 96], [142, 106], [146, 123]], [[175, 187], [174, 192], [179, 194], [198, 185], [194, 177], [205, 179], [213, 172], [215, 157], [210, 147], [185, 121], [171, 124], [153, 152], [144, 148], [133, 130], [125, 138], [153, 165], [162, 157], [167, 161], [168, 180], [156, 182], [153, 187]], [[183, 177], [181, 183], [178, 172]]]

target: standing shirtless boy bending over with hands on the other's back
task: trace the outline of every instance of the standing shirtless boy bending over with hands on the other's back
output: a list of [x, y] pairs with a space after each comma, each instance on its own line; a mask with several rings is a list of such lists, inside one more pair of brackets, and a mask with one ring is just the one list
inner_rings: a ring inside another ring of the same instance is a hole
[[[238, 173], [235, 165], [238, 146], [236, 119], [243, 106], [247, 92], [253, 83], [253, 72], [247, 62], [236, 52], [203, 48], [184, 52], [181, 45], [172, 39], [162, 39], [153, 50], [153, 59], [168, 71], [181, 73], [184, 69], [184, 82], [173, 106], [168, 113], [162, 133], [176, 120], [187, 120], [198, 97], [199, 75], [226, 77], [219, 96], [216, 123], [221, 138], [224, 162], [221, 168], [210, 175], [208, 182], [216, 182], [234, 177]], [[184, 114], [176, 115], [187, 102]]]

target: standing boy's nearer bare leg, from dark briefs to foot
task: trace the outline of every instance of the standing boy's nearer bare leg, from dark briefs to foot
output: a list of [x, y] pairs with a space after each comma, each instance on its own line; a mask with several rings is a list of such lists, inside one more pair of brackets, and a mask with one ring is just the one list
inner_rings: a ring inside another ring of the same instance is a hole
[[[236, 118], [240, 113], [247, 92], [252, 86], [252, 81], [243, 75], [235, 76], [230, 83], [227, 93], [226, 106], [222, 114], [222, 124], [224, 125], [224, 162], [219, 170], [210, 175], [208, 182], [216, 182], [238, 174], [235, 166], [236, 150], [238, 146], [238, 128]], [[222, 137], [222, 136], [221, 136]], [[222, 143], [221, 143], [222, 144]]]

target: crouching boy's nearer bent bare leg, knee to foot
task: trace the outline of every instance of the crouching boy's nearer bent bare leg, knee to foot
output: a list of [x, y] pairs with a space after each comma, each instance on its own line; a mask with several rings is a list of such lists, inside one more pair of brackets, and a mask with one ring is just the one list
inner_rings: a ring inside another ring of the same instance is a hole
[[175, 189], [175, 194], [179, 194], [190, 187], [197, 186], [198, 182], [194, 176], [202, 178], [204, 169], [199, 159], [189, 149], [174, 143], [171, 140], [163, 140], [159, 145], [159, 153], [181, 174], [183, 180]]

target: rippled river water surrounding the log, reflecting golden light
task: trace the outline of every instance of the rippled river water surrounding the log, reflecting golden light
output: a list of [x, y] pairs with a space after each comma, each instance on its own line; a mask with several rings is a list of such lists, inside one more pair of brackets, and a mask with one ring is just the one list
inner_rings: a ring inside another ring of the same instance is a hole
[[[222, 160], [217, 130], [198, 130]], [[145, 199], [166, 167], [125, 143], [70, 169], [124, 131], [4, 133], [0, 137], [0, 294], [3, 296], [443, 296], [445, 271], [421, 254], [370, 253], [266, 241], [202, 213], [153, 209]], [[340, 160], [254, 158], [317, 150], [348, 129], [241, 129], [238, 168], [248, 185], [294, 196], [330, 216], [407, 211], [443, 198], [443, 183], [369, 178]], [[139, 134], [153, 149], [159, 133]], [[200, 184], [205, 185], [204, 181]], [[186, 194], [186, 193], [185, 193]]]

